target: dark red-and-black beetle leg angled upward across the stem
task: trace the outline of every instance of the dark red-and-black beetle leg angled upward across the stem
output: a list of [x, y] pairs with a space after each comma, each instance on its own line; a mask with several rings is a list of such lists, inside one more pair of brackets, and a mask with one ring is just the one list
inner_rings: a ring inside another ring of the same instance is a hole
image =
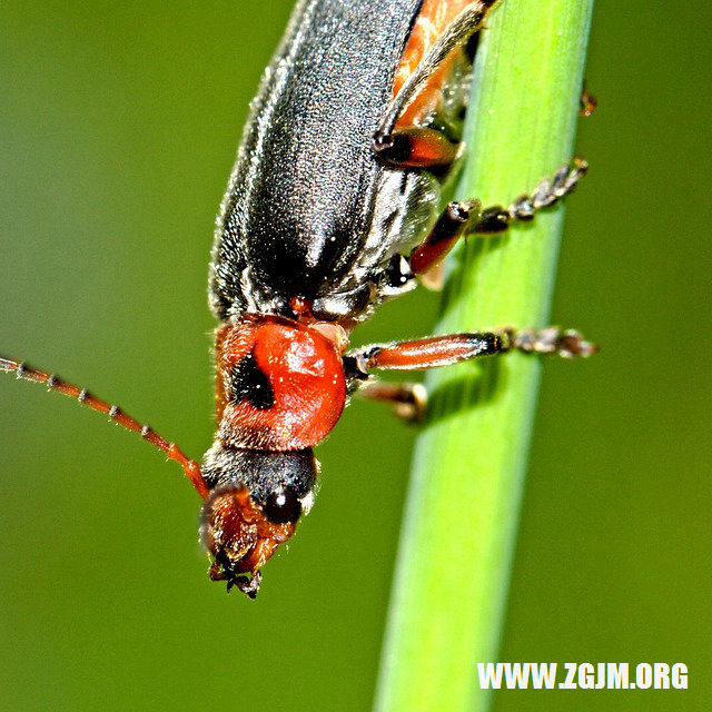
[[429, 271], [463, 235], [503, 233], [512, 220], [531, 220], [536, 210], [554, 205], [571, 192], [587, 168], [583, 158], [574, 158], [573, 165], [564, 164], [552, 180], [542, 180], [531, 196], [520, 196], [508, 208], [492, 206], [483, 209], [478, 200], [448, 202], [428, 236], [411, 253], [408, 265], [413, 274]]

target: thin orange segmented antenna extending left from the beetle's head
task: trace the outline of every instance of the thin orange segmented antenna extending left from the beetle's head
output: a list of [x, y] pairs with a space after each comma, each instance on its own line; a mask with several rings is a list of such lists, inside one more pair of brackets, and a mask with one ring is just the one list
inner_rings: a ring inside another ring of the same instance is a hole
[[92, 411], [108, 414], [109, 418], [115, 423], [118, 423], [127, 431], [134, 431], [140, 433], [141, 437], [158, 447], [158, 449], [166, 453], [168, 459], [177, 462], [181, 467], [186, 477], [190, 479], [192, 486], [198, 491], [198, 494], [205, 500], [208, 495], [208, 487], [200, 473], [200, 465], [195, 459], [189, 459], [175, 443], [169, 443], [162, 438], [154, 428], [148, 425], [141, 425], [138, 421], [123, 413], [118, 406], [110, 405], [106, 400], [101, 400], [96, 396], [92, 396], [86, 388], [79, 388], [71, 383], [61, 380], [55, 374], [48, 374], [37, 368], [30, 368], [21, 362], [11, 360], [9, 358], [2, 358], [0, 356], [0, 370], [7, 370], [8, 373], [14, 372], [18, 378], [24, 380], [31, 380], [34, 383], [43, 383], [49, 390], [56, 390], [62, 393], [70, 398], [76, 398], [81, 405], [86, 405]]

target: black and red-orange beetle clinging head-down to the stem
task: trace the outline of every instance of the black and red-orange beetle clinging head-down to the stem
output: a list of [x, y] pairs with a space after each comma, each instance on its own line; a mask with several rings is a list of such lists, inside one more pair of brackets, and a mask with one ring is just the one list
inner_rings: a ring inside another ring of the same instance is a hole
[[210, 577], [249, 597], [314, 501], [314, 446], [352, 394], [406, 418], [422, 388], [374, 369], [424, 369], [513, 349], [587, 356], [576, 332], [434, 336], [349, 349], [352, 330], [402, 295], [466, 234], [507, 229], [555, 204], [583, 160], [508, 207], [451, 201], [477, 31], [494, 0], [300, 0], [267, 68], [221, 204], [210, 264], [217, 432], [198, 463], [149, 426], [53, 374], [0, 358], [136, 431], [204, 500]]

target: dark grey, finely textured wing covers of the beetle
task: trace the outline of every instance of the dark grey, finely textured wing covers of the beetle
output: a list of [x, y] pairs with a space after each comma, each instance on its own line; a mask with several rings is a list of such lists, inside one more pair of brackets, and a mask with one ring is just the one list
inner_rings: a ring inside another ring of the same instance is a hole
[[419, 174], [404, 184], [373, 150], [422, 3], [298, 4], [222, 204], [210, 279], [218, 318], [290, 315], [295, 295], [314, 300], [317, 316], [358, 316], [388, 288], [392, 255], [422, 237], [437, 181]]

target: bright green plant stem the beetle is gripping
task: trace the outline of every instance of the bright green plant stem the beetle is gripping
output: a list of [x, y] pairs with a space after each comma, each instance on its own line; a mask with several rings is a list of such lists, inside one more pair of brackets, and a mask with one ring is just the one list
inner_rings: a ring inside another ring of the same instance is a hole
[[[477, 52], [459, 198], [508, 204], [571, 159], [593, 0], [504, 0]], [[451, 260], [436, 333], [548, 322], [562, 206]], [[565, 367], [565, 364], [561, 364]], [[416, 445], [376, 698], [380, 712], [486, 710], [541, 364], [433, 372]]]

